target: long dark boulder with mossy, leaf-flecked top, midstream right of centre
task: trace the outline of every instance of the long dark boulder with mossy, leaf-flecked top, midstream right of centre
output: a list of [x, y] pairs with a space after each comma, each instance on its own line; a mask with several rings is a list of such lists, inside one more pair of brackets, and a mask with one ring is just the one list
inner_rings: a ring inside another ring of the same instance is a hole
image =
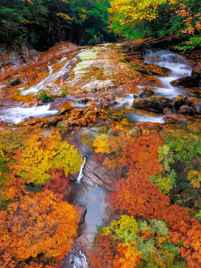
[[134, 107], [163, 112], [163, 108], [170, 107], [172, 100], [163, 96], [152, 96], [144, 99], [136, 99], [133, 101]]

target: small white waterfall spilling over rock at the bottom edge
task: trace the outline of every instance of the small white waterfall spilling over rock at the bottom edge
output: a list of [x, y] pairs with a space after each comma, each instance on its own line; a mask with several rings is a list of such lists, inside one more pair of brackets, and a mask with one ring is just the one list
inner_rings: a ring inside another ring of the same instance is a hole
[[74, 245], [65, 257], [62, 268], [87, 268], [88, 263], [84, 253]]

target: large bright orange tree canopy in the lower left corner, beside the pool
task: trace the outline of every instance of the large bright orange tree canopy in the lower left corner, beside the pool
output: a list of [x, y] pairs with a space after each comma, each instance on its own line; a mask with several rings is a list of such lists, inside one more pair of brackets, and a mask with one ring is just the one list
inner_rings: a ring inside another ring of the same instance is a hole
[[51, 259], [68, 252], [77, 223], [75, 209], [60, 194], [45, 190], [22, 196], [0, 211], [0, 266], [19, 267], [41, 253]]

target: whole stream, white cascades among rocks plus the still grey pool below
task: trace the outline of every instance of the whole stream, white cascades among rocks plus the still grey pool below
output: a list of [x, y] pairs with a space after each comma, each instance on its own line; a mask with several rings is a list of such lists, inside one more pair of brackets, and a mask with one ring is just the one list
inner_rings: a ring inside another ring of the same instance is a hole
[[[82, 51], [83, 50], [78, 50], [73, 53], [67, 53], [64, 56], [55, 57], [54, 59], [50, 60], [46, 66], [45, 73], [38, 75], [37, 79], [35, 80], [35, 85], [29, 85], [28, 80], [26, 79], [25, 71], [19, 72], [17, 75], [20, 77], [23, 76], [24, 78], [21, 84], [14, 87], [14, 90], [17, 92], [17, 102], [15, 103], [14, 107], [0, 111], [0, 121], [17, 124], [19, 122], [23, 122], [30, 116], [46, 118], [50, 115], [56, 114], [59, 104], [67, 99], [72, 101], [75, 108], [79, 109], [83, 107], [83, 104], [79, 103], [81, 97], [75, 98], [72, 96], [66, 96], [62, 100], [54, 103], [48, 103], [39, 107], [36, 106], [37, 91], [50, 82], [63, 83], [64, 78], [66, 79], [68, 77], [69, 71], [72, 71], [72, 68], [78, 62], [77, 54]], [[151, 76], [152, 81], [154, 80], [156, 85], [152, 88], [152, 90], [155, 92], [155, 95], [173, 98], [179, 94], [182, 94], [187, 96], [188, 99], [197, 97], [197, 92], [195, 90], [178, 88], [170, 85], [172, 80], [191, 75], [192, 67], [189, 65], [185, 57], [181, 57], [180, 55], [170, 51], [160, 50], [153, 52], [151, 49], [148, 49], [144, 53], [144, 63], [152, 63], [171, 69], [171, 76]], [[145, 77], [150, 79], [150, 77], [147, 75]], [[137, 90], [140, 88], [142, 87], [138, 86]], [[106, 96], [106, 94], [107, 93], [102, 93], [100, 96]], [[119, 114], [119, 117], [126, 117], [128, 122], [132, 123], [147, 121], [164, 123], [163, 114], [138, 108], [133, 108], [130, 110], [127, 109], [128, 106], [132, 106], [133, 93], [128, 94], [114, 92], [113, 94], [117, 97], [122, 97], [123, 101], [111, 107], [111, 114], [116, 112], [117, 115]], [[87, 103], [87, 105], [93, 105], [94, 107], [100, 108], [100, 103], [97, 101], [97, 97], [93, 98], [93, 96], [90, 97], [90, 101]], [[96, 225], [103, 223], [102, 216], [105, 212], [105, 197], [107, 196], [107, 192], [99, 186], [95, 185], [95, 187], [92, 188], [81, 182], [81, 178], [83, 176], [82, 168], [84, 163], [80, 169], [77, 181], [71, 183], [72, 200], [85, 204], [87, 207], [85, 221], [78, 229], [78, 236], [88, 232], [96, 232]], [[75, 253], [70, 253], [72, 262], [65, 266], [66, 268], [87, 267], [85, 256], [79, 251], [79, 249], [76, 250]]]

